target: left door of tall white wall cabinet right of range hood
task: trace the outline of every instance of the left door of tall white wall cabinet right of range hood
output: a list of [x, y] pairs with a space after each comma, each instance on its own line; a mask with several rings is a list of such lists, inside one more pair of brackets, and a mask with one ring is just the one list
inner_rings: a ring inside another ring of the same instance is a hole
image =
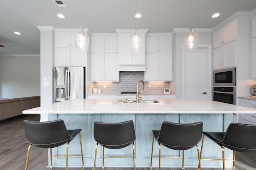
[[158, 81], [158, 53], [146, 53], [145, 81]]

